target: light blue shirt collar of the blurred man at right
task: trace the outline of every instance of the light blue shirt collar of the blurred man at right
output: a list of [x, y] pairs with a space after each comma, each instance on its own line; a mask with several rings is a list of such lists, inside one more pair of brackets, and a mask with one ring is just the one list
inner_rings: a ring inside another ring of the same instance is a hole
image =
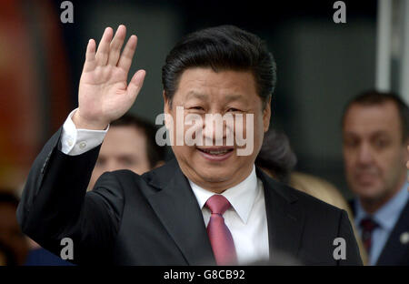
[[[392, 229], [396, 223], [399, 215], [404, 208], [407, 200], [409, 199], [409, 192], [407, 190], [409, 186], [408, 182], [404, 183], [404, 186], [391, 198], [388, 202], [384, 204], [382, 208], [379, 208], [374, 214], [374, 221], [379, 224], [382, 228]], [[359, 224], [363, 218], [370, 216], [365, 212], [361, 205], [359, 198], [356, 199], [356, 224]]]

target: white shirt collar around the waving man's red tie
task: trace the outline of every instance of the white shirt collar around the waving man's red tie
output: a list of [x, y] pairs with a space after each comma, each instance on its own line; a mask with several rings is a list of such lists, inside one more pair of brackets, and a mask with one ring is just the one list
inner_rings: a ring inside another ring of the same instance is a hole
[[[214, 196], [215, 193], [199, 187], [190, 179], [189, 184], [195, 193], [199, 207], [201, 209], [204, 208], [207, 199]], [[244, 224], [247, 223], [251, 208], [254, 204], [254, 199], [257, 196], [257, 176], [255, 175], [255, 167], [253, 166], [251, 174], [241, 183], [233, 188], [224, 190], [222, 195], [229, 200]]]

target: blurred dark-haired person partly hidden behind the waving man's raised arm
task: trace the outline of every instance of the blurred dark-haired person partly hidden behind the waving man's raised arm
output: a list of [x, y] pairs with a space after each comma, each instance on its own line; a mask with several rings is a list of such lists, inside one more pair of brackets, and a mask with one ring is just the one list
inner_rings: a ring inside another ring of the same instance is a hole
[[165, 147], [155, 141], [156, 128], [140, 117], [125, 114], [113, 121], [96, 160], [89, 189], [106, 171], [129, 169], [138, 175], [165, 164]]

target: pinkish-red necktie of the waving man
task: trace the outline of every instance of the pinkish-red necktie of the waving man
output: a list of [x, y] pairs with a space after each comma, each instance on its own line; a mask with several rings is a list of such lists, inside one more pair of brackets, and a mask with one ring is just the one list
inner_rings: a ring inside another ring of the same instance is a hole
[[207, 235], [217, 265], [237, 264], [234, 240], [223, 218], [224, 211], [231, 207], [230, 202], [222, 195], [214, 195], [207, 199], [205, 206], [212, 212], [207, 225]]

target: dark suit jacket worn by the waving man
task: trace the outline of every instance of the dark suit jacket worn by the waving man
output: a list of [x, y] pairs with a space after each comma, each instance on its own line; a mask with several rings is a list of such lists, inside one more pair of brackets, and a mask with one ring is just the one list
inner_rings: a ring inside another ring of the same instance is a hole
[[[58, 150], [60, 130], [31, 168], [17, 219], [30, 238], [60, 255], [62, 238], [74, 241], [79, 264], [214, 264], [195, 194], [176, 160], [143, 176], [105, 173], [86, 188], [99, 147], [67, 156]], [[361, 265], [344, 210], [275, 182], [257, 168], [264, 185], [270, 258], [285, 253], [304, 264]], [[346, 242], [335, 260], [334, 238]]]

